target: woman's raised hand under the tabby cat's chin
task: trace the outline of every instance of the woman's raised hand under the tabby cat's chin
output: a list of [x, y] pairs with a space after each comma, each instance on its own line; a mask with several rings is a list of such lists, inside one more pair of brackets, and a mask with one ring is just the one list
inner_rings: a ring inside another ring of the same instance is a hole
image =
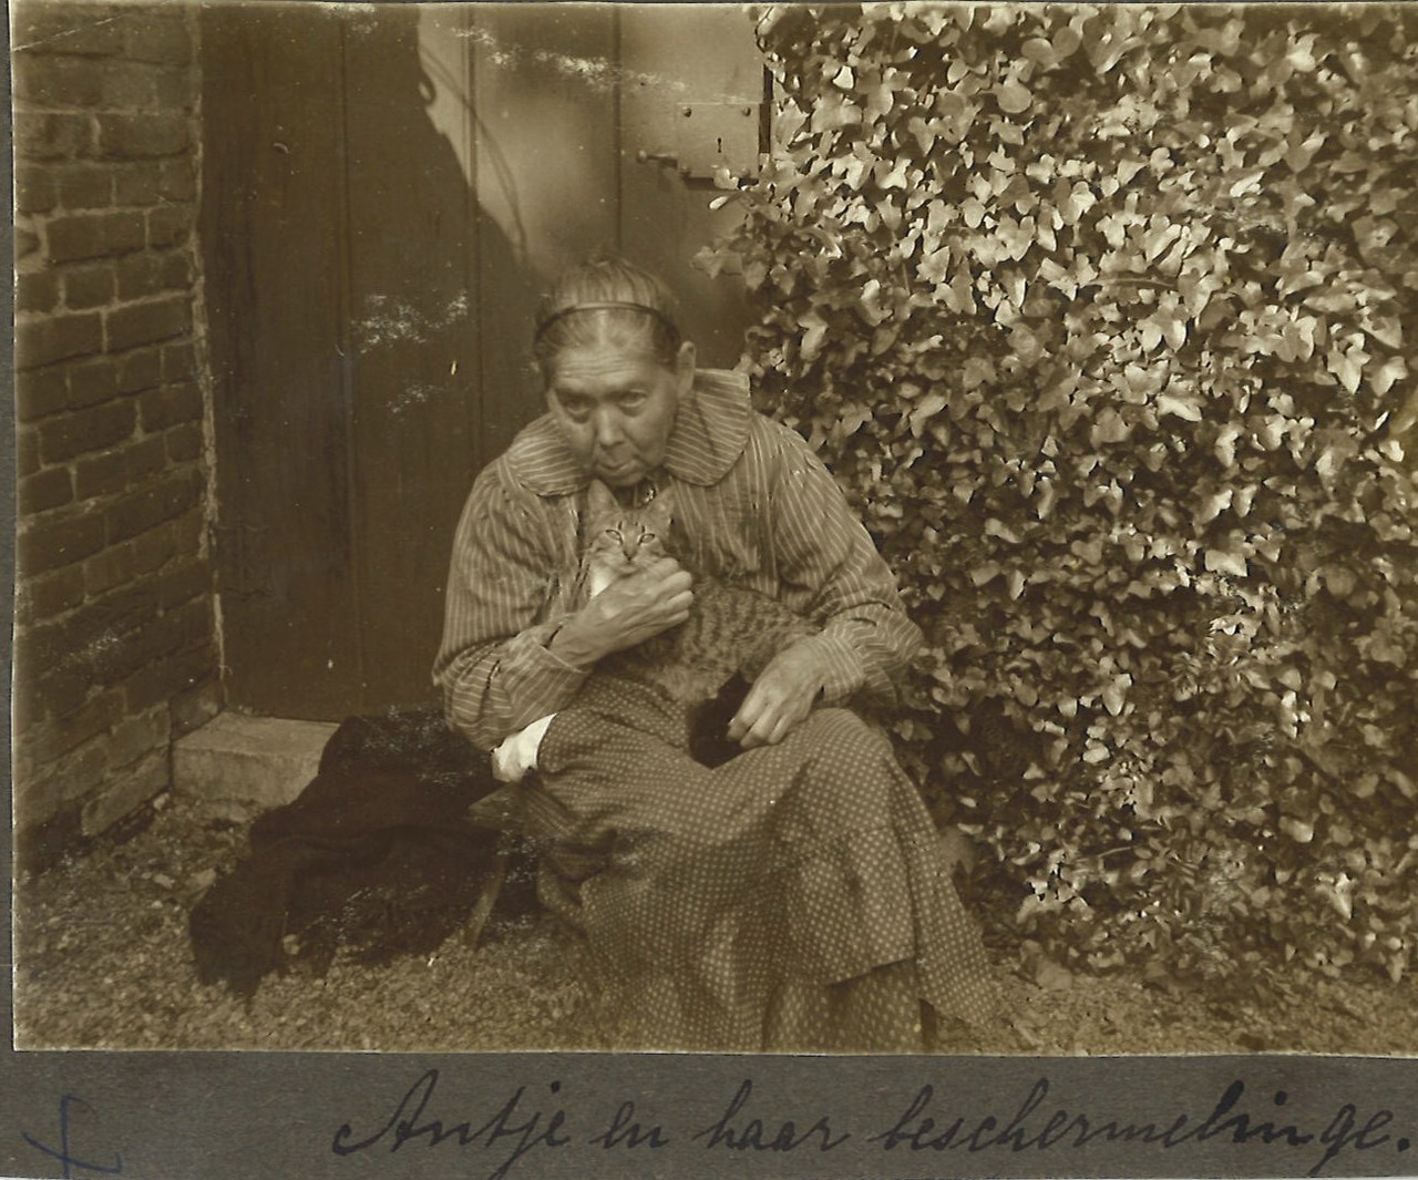
[[674, 557], [659, 557], [591, 599], [553, 635], [550, 650], [588, 668], [613, 651], [642, 644], [689, 617], [692, 584]]

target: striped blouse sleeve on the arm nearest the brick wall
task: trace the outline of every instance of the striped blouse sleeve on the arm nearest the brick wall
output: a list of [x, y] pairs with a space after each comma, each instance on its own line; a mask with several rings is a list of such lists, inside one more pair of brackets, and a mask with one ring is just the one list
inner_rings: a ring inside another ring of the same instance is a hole
[[448, 722], [484, 749], [563, 708], [586, 681], [547, 650], [564, 567], [546, 506], [492, 464], [458, 522], [434, 662]]

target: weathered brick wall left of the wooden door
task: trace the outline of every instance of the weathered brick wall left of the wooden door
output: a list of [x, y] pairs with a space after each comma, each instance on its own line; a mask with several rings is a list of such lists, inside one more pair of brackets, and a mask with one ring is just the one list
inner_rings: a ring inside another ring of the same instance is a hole
[[189, 3], [13, 7], [21, 859], [166, 787], [218, 703], [197, 35]]

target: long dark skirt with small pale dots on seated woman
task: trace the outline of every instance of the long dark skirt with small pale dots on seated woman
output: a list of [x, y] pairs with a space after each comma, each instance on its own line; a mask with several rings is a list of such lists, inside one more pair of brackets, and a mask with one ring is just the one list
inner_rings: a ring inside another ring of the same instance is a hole
[[678, 706], [593, 678], [542, 740], [526, 821], [586, 936], [614, 1048], [920, 1052], [995, 993], [891, 745], [821, 709], [709, 770]]

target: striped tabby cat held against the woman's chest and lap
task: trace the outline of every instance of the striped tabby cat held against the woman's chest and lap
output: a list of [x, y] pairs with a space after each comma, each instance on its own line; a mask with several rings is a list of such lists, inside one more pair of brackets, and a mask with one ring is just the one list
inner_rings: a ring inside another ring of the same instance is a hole
[[[576, 576], [586, 600], [661, 557], [676, 557], [671, 492], [627, 508], [591, 481]], [[693, 572], [692, 572], [693, 573]], [[696, 576], [689, 618], [645, 642], [607, 655], [591, 677], [648, 684], [691, 709], [689, 752], [708, 764], [727, 760], [737, 746], [725, 730], [749, 684], [780, 651], [818, 628], [777, 599], [713, 577]], [[536, 747], [552, 718], [540, 718], [493, 752], [498, 777], [515, 781], [536, 767]]]

